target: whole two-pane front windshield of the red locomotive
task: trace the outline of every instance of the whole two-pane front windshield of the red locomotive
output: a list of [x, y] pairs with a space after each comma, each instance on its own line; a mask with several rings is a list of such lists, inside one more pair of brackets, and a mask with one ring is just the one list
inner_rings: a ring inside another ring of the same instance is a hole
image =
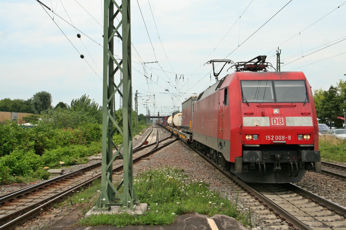
[[309, 102], [304, 80], [240, 81], [243, 102]]

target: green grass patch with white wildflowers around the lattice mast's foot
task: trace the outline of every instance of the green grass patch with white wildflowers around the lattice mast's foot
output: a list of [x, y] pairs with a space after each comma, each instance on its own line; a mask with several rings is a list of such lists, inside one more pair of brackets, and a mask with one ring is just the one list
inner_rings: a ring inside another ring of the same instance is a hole
[[224, 214], [244, 225], [251, 225], [249, 211], [240, 213], [237, 203], [230, 202], [220, 194], [208, 189], [208, 184], [200, 180], [189, 180], [182, 170], [172, 167], [141, 173], [134, 182], [136, 194], [141, 203], [148, 204], [143, 215], [129, 213], [101, 214], [82, 219], [80, 224], [112, 225], [166, 225], [177, 215], [198, 212], [207, 216]]

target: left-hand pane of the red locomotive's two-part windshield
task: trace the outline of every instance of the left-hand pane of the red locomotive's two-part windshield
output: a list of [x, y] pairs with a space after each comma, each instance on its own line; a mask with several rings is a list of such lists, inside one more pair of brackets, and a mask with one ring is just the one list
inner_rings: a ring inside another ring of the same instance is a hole
[[272, 81], [240, 81], [243, 102], [273, 102], [274, 94]]

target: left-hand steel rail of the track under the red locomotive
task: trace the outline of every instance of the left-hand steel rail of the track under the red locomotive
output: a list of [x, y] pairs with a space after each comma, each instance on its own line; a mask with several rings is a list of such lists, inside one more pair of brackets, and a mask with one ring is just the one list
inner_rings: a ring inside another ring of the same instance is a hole
[[190, 147], [193, 151], [197, 152], [200, 154], [204, 159], [206, 159], [209, 163], [213, 164], [217, 169], [225, 173], [228, 177], [230, 177], [232, 180], [234, 180], [236, 183], [238, 183], [240, 186], [242, 186], [245, 190], [247, 190], [249, 193], [252, 193], [256, 199], [260, 200], [263, 204], [267, 205], [272, 209], [273, 212], [275, 212], [276, 215], [280, 216], [283, 218], [286, 222], [291, 224], [295, 229], [300, 229], [300, 230], [313, 230], [303, 222], [301, 222], [299, 219], [294, 217], [292, 214], [290, 214], [288, 211], [284, 210], [281, 208], [278, 204], [274, 203], [270, 199], [266, 198], [263, 196], [260, 192], [256, 191], [252, 187], [250, 187], [248, 184], [246, 184], [244, 181], [238, 179], [234, 174], [222, 170], [222, 168], [214, 161], [209, 159], [209, 157], [205, 156], [203, 153], [198, 151], [197, 149], [194, 149], [190, 144], [184, 142], [188, 147]]

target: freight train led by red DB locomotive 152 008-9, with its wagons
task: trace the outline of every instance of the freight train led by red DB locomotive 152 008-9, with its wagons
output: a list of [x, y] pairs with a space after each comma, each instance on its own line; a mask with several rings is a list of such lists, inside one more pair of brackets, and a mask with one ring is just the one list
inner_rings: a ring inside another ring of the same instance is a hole
[[182, 103], [179, 127], [158, 123], [246, 182], [298, 182], [307, 170], [320, 172], [316, 109], [304, 74], [258, 71], [264, 62], [235, 66]]

